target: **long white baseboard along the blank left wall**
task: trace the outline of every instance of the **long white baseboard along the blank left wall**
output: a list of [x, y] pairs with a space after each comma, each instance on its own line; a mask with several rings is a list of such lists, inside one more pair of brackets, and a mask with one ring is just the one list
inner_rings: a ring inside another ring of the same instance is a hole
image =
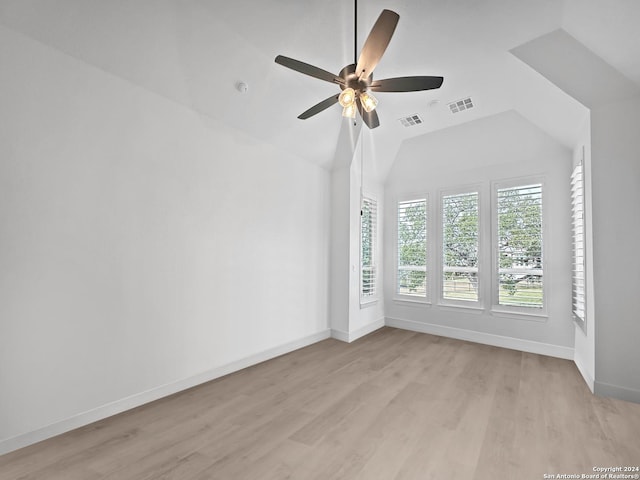
[[314, 343], [325, 340], [330, 336], [331, 331], [329, 329], [322, 330], [313, 335], [308, 335], [298, 340], [294, 340], [293, 342], [288, 342], [283, 345], [270, 348], [255, 355], [250, 355], [235, 362], [213, 368], [201, 374], [161, 385], [151, 390], [140, 392], [130, 397], [126, 397], [115, 402], [102, 405], [100, 407], [89, 410], [88, 412], [80, 413], [73, 417], [52, 423], [32, 432], [27, 432], [9, 439], [1, 440], [0, 455], [18, 450], [19, 448], [32, 445], [42, 440], [46, 440], [47, 438], [55, 437], [56, 435], [60, 435], [61, 433], [65, 433], [84, 425], [96, 422], [98, 420], [110, 417], [112, 415], [124, 412], [126, 410], [139, 407], [140, 405], [153, 402], [154, 400], [158, 400], [168, 395], [173, 395], [174, 393], [181, 392], [202, 383], [215, 380], [216, 378], [228, 375], [233, 372], [237, 372], [238, 370], [242, 370], [243, 368], [247, 368], [266, 360], [279, 357], [280, 355], [293, 352], [294, 350], [298, 350], [308, 345], [312, 345]]

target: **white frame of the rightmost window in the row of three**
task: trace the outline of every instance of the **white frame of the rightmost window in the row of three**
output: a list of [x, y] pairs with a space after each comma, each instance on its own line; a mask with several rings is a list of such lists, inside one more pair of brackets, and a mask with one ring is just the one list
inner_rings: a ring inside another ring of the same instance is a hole
[[[542, 191], [542, 307], [524, 307], [515, 305], [501, 305], [500, 275], [498, 257], [498, 190], [514, 188], [526, 185], [541, 185]], [[491, 311], [495, 314], [521, 315], [532, 320], [544, 321], [547, 318], [549, 304], [549, 269], [548, 266], [548, 201], [547, 185], [542, 176], [526, 176], [509, 180], [497, 180], [491, 182]]]

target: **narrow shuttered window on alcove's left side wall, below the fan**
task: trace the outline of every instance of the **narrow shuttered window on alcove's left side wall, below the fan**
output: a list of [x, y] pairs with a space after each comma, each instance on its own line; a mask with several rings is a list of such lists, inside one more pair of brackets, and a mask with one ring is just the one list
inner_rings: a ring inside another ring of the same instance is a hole
[[362, 299], [376, 295], [376, 232], [378, 204], [372, 198], [362, 199], [360, 212], [360, 278]]

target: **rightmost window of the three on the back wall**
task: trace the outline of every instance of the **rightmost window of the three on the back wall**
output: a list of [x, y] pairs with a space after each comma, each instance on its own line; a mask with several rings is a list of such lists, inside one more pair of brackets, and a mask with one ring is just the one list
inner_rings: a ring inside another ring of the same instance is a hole
[[496, 193], [498, 305], [542, 308], [542, 185]]

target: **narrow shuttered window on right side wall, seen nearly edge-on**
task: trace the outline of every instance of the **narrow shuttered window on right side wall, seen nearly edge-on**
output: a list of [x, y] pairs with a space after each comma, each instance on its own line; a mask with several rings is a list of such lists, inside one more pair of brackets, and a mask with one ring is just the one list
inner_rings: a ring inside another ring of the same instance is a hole
[[584, 171], [580, 162], [571, 174], [571, 215], [573, 226], [572, 304], [573, 318], [585, 328], [585, 235], [584, 235]]

